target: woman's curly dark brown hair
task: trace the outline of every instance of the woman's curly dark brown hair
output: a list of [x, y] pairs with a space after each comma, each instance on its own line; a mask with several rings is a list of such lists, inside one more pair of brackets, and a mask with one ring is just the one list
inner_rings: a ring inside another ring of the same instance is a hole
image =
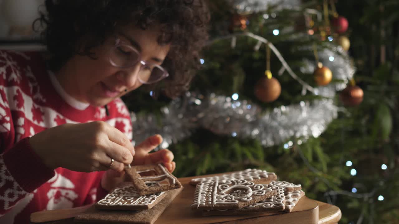
[[120, 26], [160, 25], [158, 43], [171, 44], [162, 64], [170, 76], [162, 89], [172, 98], [188, 89], [208, 37], [209, 11], [203, 0], [46, 0], [45, 6], [47, 12], [37, 21], [44, 25], [41, 36], [55, 71], [75, 54], [94, 58], [93, 47]]

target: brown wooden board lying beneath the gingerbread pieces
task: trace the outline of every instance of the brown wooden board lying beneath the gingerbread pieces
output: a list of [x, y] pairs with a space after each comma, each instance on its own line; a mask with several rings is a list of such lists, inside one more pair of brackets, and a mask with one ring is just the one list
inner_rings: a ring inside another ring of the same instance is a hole
[[[294, 207], [294, 210], [290, 213], [263, 212], [236, 216], [199, 216], [191, 209], [195, 187], [188, 183], [192, 178], [196, 177], [179, 179], [184, 186], [184, 190], [166, 208], [164, 213], [158, 218], [158, 220], [156, 220], [155, 224], [334, 224], [341, 218], [341, 211], [338, 207], [311, 200], [306, 196], [300, 199], [298, 204]], [[77, 224], [77, 222], [73, 222], [73, 217], [84, 212], [87, 208], [88, 207], [86, 206], [73, 209], [35, 212], [31, 215], [31, 222], [46, 222], [46, 224]], [[64, 220], [59, 220], [60, 218], [63, 218]]]

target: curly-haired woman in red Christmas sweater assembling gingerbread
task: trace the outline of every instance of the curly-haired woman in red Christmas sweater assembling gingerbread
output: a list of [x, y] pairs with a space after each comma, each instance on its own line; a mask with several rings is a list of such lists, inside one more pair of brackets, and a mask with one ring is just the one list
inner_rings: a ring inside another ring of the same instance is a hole
[[127, 164], [173, 171], [171, 151], [149, 153], [161, 136], [130, 143], [120, 96], [143, 84], [170, 96], [185, 90], [207, 37], [202, 0], [45, 6], [35, 25], [45, 25], [48, 55], [0, 51], [0, 223], [93, 203], [122, 181]]

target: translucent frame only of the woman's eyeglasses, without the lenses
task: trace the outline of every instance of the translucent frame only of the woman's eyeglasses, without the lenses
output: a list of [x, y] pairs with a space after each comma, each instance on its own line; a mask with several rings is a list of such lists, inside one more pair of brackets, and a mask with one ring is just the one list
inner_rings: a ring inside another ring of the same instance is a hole
[[138, 81], [140, 81], [140, 83], [142, 83], [142, 84], [154, 84], [154, 83], [157, 83], [157, 82], [161, 81], [162, 79], [165, 79], [166, 77], [169, 77], [169, 73], [168, 73], [168, 71], [167, 71], [164, 67], [162, 67], [162, 66], [160, 66], [160, 65], [158, 65], [158, 64], [156, 64], [156, 63], [148, 63], [148, 62], [146, 62], [146, 61], [141, 60], [141, 53], [140, 53], [140, 51], [138, 51], [138, 50], [137, 50], [135, 47], [133, 47], [132, 45], [124, 43], [124, 42], [121, 41], [118, 37], [115, 37], [115, 45], [114, 45], [113, 47], [111, 47], [111, 49], [109, 50], [110, 53], [111, 53], [111, 51], [115, 50], [117, 47], [119, 47], [119, 46], [121, 46], [121, 45], [124, 45], [124, 46], [130, 48], [131, 50], [133, 50], [134, 52], [136, 52], [137, 55], [138, 55], [137, 61], [135, 61], [134, 63], [132, 63], [130, 66], [119, 66], [119, 65], [115, 64], [115, 62], [112, 61], [111, 55], [109, 55], [109, 63], [111, 63], [112, 66], [117, 67], [117, 68], [121, 68], [121, 69], [127, 69], [127, 68], [130, 68], [130, 67], [134, 67], [137, 63], [140, 63], [140, 71], [141, 71], [141, 69], [143, 68], [143, 66], [145, 66], [145, 65], [152, 65], [152, 66], [154, 66], [154, 67], [157, 67], [157, 68], [160, 69], [161, 71], [163, 71], [162, 76], [161, 76], [158, 80], [153, 81], [153, 82], [144, 82], [144, 81], [142, 81], [142, 80], [140, 79], [140, 74], [139, 74], [139, 75], [138, 75]]

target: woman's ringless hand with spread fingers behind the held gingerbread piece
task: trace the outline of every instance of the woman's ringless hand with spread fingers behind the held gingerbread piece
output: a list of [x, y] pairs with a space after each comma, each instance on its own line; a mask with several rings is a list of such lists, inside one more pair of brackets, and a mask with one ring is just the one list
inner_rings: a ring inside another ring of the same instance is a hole
[[[171, 173], [176, 168], [176, 163], [173, 161], [174, 155], [169, 149], [162, 149], [153, 153], [149, 153], [162, 143], [162, 136], [154, 135], [144, 140], [140, 145], [134, 147], [136, 154], [133, 157], [132, 165], [147, 165], [162, 163]], [[110, 191], [117, 184], [124, 180], [124, 171], [117, 172], [108, 170], [104, 173], [101, 179], [101, 186]]]

